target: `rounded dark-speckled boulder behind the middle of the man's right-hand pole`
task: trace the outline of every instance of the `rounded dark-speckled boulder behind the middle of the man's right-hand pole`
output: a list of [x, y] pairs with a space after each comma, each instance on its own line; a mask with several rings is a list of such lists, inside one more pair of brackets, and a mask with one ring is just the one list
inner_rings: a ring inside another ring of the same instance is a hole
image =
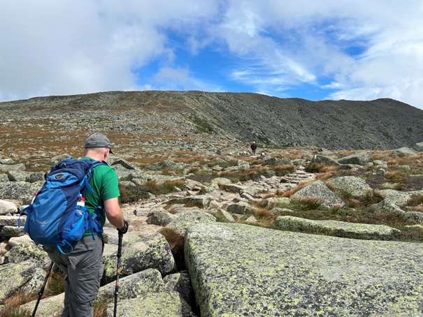
[[[116, 272], [116, 252], [103, 256], [103, 263], [103, 279], [107, 282], [113, 281]], [[175, 259], [171, 247], [159, 233], [141, 237], [134, 243], [122, 246], [120, 267], [122, 277], [150, 268], [159, 270], [163, 276], [175, 272]]]

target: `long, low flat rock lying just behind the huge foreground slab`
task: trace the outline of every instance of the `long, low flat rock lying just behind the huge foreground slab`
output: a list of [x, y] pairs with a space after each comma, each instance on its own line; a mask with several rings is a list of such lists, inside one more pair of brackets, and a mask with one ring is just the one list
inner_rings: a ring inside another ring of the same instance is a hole
[[275, 219], [275, 226], [282, 230], [301, 230], [302, 232], [324, 230], [328, 233], [336, 233], [338, 237], [350, 237], [353, 235], [354, 237], [361, 237], [364, 239], [378, 239], [378, 237], [391, 236], [393, 233], [399, 232], [399, 230], [395, 228], [384, 225], [349, 223], [335, 220], [310, 220], [294, 216], [278, 216]]

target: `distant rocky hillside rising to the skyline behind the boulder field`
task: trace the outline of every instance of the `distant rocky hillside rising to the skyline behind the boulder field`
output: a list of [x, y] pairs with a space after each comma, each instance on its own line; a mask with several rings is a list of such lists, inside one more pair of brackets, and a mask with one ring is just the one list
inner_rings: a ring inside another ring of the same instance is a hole
[[421, 142], [423, 134], [423, 111], [392, 99], [314, 102], [250, 93], [109, 91], [5, 102], [0, 111], [0, 148], [10, 152], [22, 146], [72, 152], [93, 130], [106, 131], [125, 148], [147, 151], [252, 140], [394, 149]]

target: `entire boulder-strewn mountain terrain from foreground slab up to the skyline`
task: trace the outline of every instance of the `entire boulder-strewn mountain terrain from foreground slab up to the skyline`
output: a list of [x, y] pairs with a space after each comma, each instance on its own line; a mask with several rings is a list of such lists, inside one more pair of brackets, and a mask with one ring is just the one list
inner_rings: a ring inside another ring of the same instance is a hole
[[[20, 212], [95, 131], [129, 221], [117, 316], [423, 316], [421, 110], [200, 91], [0, 110], [0, 317], [31, 315], [50, 265]], [[113, 316], [107, 222], [103, 240], [94, 313]], [[36, 316], [61, 314], [63, 278], [54, 267]]]

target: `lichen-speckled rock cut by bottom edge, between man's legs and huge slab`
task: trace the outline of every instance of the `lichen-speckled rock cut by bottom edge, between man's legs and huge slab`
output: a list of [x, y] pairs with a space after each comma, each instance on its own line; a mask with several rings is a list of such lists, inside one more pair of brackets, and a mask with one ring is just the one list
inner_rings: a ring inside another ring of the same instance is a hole
[[[106, 317], [113, 317], [114, 303], [108, 304]], [[118, 317], [194, 317], [191, 307], [178, 292], [152, 293], [117, 302]]]

